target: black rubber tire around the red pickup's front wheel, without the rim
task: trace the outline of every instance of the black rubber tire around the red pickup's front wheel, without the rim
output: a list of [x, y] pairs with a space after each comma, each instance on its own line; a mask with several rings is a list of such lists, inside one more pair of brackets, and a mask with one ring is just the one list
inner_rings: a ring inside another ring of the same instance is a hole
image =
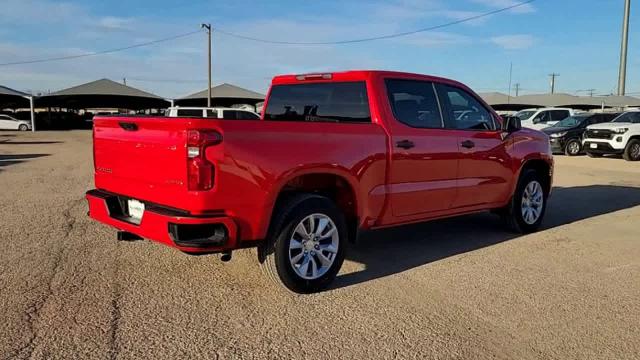
[[[533, 223], [528, 223], [524, 219], [522, 202], [525, 188], [533, 181], [537, 181], [542, 187], [542, 209], [538, 219]], [[547, 209], [548, 191], [545, 189], [545, 183], [546, 181], [542, 174], [533, 169], [523, 170], [522, 174], [520, 174], [518, 185], [516, 186], [516, 191], [511, 197], [511, 201], [500, 211], [502, 219], [510, 230], [528, 234], [535, 232], [540, 228], [542, 220], [544, 219], [544, 213]]]

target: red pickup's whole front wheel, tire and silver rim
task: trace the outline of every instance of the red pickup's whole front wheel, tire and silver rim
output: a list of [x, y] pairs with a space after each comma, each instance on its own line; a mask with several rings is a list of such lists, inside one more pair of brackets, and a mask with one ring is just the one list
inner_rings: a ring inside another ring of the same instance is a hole
[[511, 202], [502, 211], [511, 230], [526, 234], [540, 228], [547, 207], [547, 193], [542, 184], [542, 176], [535, 170], [525, 170], [520, 175]]

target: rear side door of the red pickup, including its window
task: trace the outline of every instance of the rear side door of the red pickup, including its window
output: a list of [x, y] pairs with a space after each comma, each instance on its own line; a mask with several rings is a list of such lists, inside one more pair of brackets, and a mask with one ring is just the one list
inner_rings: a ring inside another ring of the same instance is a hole
[[391, 137], [389, 196], [399, 221], [448, 210], [456, 194], [458, 139], [445, 129], [432, 82], [386, 79]]

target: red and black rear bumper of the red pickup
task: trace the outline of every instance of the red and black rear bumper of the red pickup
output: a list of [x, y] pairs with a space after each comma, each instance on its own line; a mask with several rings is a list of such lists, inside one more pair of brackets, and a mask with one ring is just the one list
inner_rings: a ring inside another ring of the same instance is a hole
[[215, 253], [240, 247], [236, 223], [228, 216], [192, 216], [181, 210], [145, 203], [142, 219], [136, 224], [122, 209], [125, 197], [90, 190], [86, 198], [91, 218], [184, 252]]

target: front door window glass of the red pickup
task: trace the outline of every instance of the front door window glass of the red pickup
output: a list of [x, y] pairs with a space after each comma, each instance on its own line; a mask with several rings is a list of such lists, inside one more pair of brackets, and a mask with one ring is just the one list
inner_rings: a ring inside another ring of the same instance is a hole
[[495, 130], [491, 112], [463, 89], [439, 85], [440, 101], [447, 115], [447, 127], [460, 130]]

